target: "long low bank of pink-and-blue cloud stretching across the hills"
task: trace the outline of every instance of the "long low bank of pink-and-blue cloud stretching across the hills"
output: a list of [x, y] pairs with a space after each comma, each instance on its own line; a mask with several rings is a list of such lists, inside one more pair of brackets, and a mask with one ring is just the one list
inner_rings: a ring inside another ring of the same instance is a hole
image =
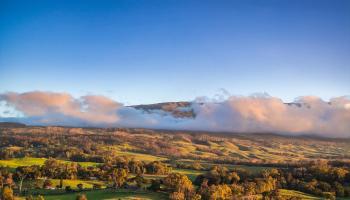
[[[350, 98], [325, 102], [315, 96], [284, 103], [267, 95], [231, 96], [220, 101], [195, 100], [194, 118], [176, 118], [169, 112], [144, 112], [104, 96], [74, 98], [67, 93], [27, 92], [0, 94], [5, 109], [21, 116], [13, 121], [41, 125], [122, 126], [225, 132], [272, 132], [350, 137]], [[1, 105], [1, 104], [0, 104]], [[8, 114], [8, 113], [7, 113]]]

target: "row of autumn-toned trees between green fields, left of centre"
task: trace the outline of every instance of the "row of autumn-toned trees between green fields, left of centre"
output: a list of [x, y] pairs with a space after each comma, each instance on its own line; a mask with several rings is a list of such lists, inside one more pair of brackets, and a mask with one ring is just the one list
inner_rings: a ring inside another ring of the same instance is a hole
[[[21, 182], [23, 178], [38, 179], [97, 179], [113, 182], [114, 187], [121, 187], [126, 181], [129, 173], [141, 176], [142, 174], [164, 175], [171, 172], [167, 164], [153, 161], [145, 163], [142, 161], [129, 160], [119, 157], [113, 161], [97, 166], [82, 167], [78, 163], [63, 162], [53, 158], [45, 161], [43, 166], [32, 165], [17, 167], [14, 174], [15, 180]], [[62, 186], [61, 186], [62, 187]]]

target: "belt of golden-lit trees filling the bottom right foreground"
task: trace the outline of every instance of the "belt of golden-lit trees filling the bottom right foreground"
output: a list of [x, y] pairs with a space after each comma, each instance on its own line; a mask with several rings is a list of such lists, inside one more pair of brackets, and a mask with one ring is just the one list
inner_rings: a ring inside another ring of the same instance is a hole
[[259, 174], [228, 170], [214, 166], [207, 173], [199, 175], [194, 181], [197, 189], [187, 176], [170, 174], [163, 180], [170, 192], [170, 199], [242, 199], [255, 198], [261, 194], [263, 199], [298, 199], [283, 197], [279, 189], [303, 191], [327, 199], [350, 197], [350, 172], [346, 167], [332, 167], [327, 162], [317, 162], [297, 168], [271, 168]]

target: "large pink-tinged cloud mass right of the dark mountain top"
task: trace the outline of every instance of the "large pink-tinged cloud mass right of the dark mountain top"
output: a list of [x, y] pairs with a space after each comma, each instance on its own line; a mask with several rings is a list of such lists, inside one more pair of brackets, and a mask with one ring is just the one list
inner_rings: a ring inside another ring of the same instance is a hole
[[[286, 104], [274, 97], [230, 97], [221, 103], [195, 107], [194, 127], [215, 131], [274, 132], [350, 136], [349, 98], [325, 102], [317, 97], [301, 97]], [[201, 124], [201, 126], [199, 126]]]

